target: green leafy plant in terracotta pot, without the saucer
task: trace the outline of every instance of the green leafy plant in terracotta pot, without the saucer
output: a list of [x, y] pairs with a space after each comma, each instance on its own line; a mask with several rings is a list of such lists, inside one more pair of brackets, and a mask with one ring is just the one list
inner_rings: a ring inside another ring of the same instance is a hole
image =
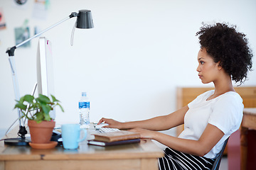
[[[50, 118], [50, 111], [53, 111], [55, 106], [60, 106], [55, 96], [51, 95], [52, 100], [43, 94], [39, 94], [38, 98], [27, 94], [22, 96], [19, 101], [16, 101], [14, 108], [19, 108], [22, 113], [21, 118], [28, 118], [28, 128], [31, 134], [32, 143], [46, 144], [50, 142], [50, 137], [53, 134], [55, 121]], [[63, 111], [64, 112], [64, 111]]]

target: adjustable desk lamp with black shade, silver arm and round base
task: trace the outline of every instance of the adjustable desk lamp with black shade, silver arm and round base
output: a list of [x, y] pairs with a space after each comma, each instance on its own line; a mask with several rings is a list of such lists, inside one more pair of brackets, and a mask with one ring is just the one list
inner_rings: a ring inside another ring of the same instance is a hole
[[[74, 28], [82, 28], [82, 29], [87, 29], [87, 28], [93, 28], [93, 23], [92, 23], [92, 15], [90, 10], [80, 10], [79, 13], [73, 12], [68, 16], [67, 18], [63, 19], [62, 21], [59, 21], [58, 23], [55, 23], [53, 26], [50, 26], [49, 28], [46, 28], [46, 30], [43, 30], [41, 33], [38, 33], [34, 35], [31, 38], [28, 38], [27, 40], [24, 40], [23, 42], [19, 43], [18, 45], [15, 45], [14, 47], [9, 47], [6, 50], [6, 53], [9, 55], [9, 62], [11, 65], [11, 73], [12, 73], [12, 79], [13, 79], [13, 84], [14, 84], [14, 94], [15, 94], [15, 99], [18, 101], [20, 99], [20, 94], [18, 90], [18, 79], [16, 75], [16, 67], [15, 67], [15, 61], [14, 61], [14, 51], [16, 48], [21, 47], [21, 45], [25, 44], [26, 42], [32, 40], [33, 38], [38, 37], [39, 35], [45, 33], [46, 31], [50, 30], [51, 28], [54, 28], [55, 26], [58, 26], [60, 23], [63, 23], [64, 21], [73, 18], [73, 17], [78, 17], [77, 21], [75, 23]], [[73, 33], [74, 29], [73, 28]], [[71, 36], [71, 45], [73, 45], [73, 35]], [[36, 88], [36, 87], [35, 87]], [[34, 89], [35, 90], [35, 89]], [[7, 145], [15, 145], [15, 146], [24, 146], [28, 145], [28, 140], [26, 140], [25, 135], [27, 134], [26, 128], [25, 128], [25, 121], [21, 118], [21, 111], [17, 108], [18, 111], [18, 120], [19, 120], [19, 130], [18, 130], [18, 138], [14, 139], [6, 139], [4, 141], [5, 144]]]

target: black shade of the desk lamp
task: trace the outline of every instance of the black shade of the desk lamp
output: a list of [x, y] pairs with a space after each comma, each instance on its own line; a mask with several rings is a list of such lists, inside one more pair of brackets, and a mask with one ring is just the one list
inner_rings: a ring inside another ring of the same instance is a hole
[[79, 11], [76, 28], [93, 28], [92, 13], [90, 10]]

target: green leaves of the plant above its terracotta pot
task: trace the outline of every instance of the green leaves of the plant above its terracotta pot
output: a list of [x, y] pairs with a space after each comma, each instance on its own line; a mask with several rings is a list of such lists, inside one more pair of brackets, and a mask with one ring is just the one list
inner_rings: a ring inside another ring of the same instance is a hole
[[28, 118], [28, 120], [36, 120], [37, 123], [42, 121], [50, 121], [50, 111], [53, 111], [55, 106], [59, 106], [61, 111], [64, 112], [63, 107], [60, 106], [60, 101], [58, 101], [55, 96], [50, 95], [52, 100], [48, 96], [39, 94], [38, 98], [27, 94], [22, 96], [19, 101], [16, 101], [14, 108], [19, 108], [21, 113], [23, 113], [21, 118]]

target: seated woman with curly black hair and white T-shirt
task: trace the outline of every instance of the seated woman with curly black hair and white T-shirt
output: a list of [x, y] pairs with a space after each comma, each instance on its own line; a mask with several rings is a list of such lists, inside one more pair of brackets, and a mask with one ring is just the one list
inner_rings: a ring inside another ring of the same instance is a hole
[[[196, 71], [203, 84], [213, 82], [213, 91], [169, 115], [127, 123], [102, 118], [98, 123], [109, 124], [107, 128], [131, 129], [142, 138], [166, 145], [159, 169], [211, 169], [223, 143], [242, 121], [242, 98], [233, 89], [232, 80], [242, 84], [252, 68], [245, 34], [238, 33], [235, 26], [216, 23], [204, 24], [196, 35], [201, 44]], [[183, 123], [184, 130], [178, 137], [157, 132]]]

